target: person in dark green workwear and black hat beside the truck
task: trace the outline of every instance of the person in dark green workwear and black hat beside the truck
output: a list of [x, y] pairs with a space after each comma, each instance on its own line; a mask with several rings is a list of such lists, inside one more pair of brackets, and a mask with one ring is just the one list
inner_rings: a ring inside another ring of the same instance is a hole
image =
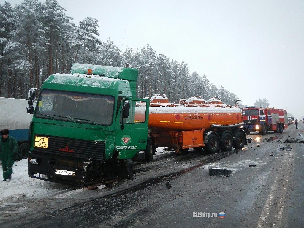
[[2, 160], [3, 181], [12, 178], [14, 157], [18, 151], [17, 140], [9, 136], [9, 130], [0, 131], [0, 158]]

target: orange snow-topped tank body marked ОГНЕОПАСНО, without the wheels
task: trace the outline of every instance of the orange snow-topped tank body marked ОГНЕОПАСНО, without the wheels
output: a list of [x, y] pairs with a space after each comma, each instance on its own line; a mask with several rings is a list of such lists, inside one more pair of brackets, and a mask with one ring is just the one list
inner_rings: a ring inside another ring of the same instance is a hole
[[[153, 97], [152, 97], [153, 98]], [[183, 99], [180, 103], [154, 103], [150, 99], [149, 129], [153, 132], [168, 130], [209, 130], [211, 125], [234, 125], [243, 122], [241, 109], [224, 105], [222, 101], [210, 102], [196, 98]], [[199, 102], [193, 102], [197, 99]], [[214, 101], [214, 98], [211, 98]]]

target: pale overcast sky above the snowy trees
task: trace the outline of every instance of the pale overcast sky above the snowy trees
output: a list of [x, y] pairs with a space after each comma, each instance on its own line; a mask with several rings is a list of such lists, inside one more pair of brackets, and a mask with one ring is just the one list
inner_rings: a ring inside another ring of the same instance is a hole
[[103, 42], [110, 37], [123, 51], [149, 43], [243, 104], [266, 98], [295, 119], [304, 116], [303, 0], [57, 1], [77, 26], [98, 19]]

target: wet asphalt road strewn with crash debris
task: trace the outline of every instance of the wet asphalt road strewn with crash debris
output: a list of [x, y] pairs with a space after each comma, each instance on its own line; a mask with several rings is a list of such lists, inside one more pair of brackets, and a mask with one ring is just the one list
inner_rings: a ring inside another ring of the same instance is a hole
[[[2, 226], [304, 227], [304, 144], [285, 141], [288, 136], [303, 140], [301, 130], [302, 122], [298, 129], [293, 124], [283, 133], [251, 133], [253, 141], [243, 150], [191, 152], [135, 164], [133, 181], [85, 191], [72, 199], [41, 199], [35, 203], [35, 213], [24, 213], [18, 220], [11, 216]], [[280, 149], [288, 146], [291, 150]], [[209, 176], [209, 168], [233, 173]], [[219, 218], [220, 212], [224, 218]]]

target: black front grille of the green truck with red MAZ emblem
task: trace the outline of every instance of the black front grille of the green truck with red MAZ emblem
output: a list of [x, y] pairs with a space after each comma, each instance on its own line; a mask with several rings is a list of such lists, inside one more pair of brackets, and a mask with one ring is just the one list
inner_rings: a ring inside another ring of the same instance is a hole
[[104, 158], [105, 142], [70, 139], [57, 136], [44, 137], [49, 138], [48, 148], [43, 149], [34, 147], [34, 151], [100, 161]]

